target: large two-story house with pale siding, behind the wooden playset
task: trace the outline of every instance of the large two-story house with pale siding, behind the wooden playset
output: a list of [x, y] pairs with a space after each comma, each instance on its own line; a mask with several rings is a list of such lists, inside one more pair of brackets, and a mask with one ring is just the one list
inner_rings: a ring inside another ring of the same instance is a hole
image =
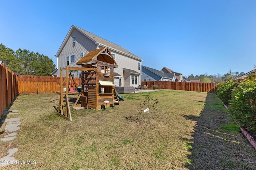
[[[114, 68], [115, 86], [139, 86], [141, 84], [142, 59], [123, 47], [74, 25], [71, 26], [55, 55], [57, 57], [57, 68], [52, 72], [52, 75], [60, 76], [60, 67], [80, 67], [76, 65], [76, 62], [90, 51], [104, 47], [108, 47], [118, 65], [117, 68]], [[63, 72], [63, 75], [66, 74]], [[80, 77], [81, 72], [74, 72], [72, 76]]]

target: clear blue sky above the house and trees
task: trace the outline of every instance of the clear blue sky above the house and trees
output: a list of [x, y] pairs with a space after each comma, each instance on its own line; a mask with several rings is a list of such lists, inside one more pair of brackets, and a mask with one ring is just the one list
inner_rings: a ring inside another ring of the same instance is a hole
[[256, 64], [256, 0], [0, 0], [0, 16], [0, 43], [54, 64], [72, 25], [184, 76]]

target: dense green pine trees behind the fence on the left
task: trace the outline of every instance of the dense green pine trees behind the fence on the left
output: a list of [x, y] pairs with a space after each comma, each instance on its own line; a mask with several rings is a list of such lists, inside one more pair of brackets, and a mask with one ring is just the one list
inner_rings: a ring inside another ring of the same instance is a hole
[[34, 53], [26, 49], [14, 51], [0, 44], [0, 61], [10, 70], [21, 75], [52, 76], [55, 64], [46, 55]]

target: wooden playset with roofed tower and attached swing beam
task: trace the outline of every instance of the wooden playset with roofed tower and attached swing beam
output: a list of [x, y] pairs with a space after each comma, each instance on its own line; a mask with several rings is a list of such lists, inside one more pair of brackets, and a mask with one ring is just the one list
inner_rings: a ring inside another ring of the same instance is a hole
[[[119, 105], [119, 97], [115, 90], [114, 82], [114, 68], [117, 67], [116, 61], [113, 59], [108, 47], [90, 51], [77, 65], [82, 67], [60, 68], [60, 102], [57, 114], [72, 121], [68, 88], [71, 81], [69, 76], [72, 71], [82, 71], [81, 73], [81, 93], [79, 94], [74, 107], [85, 107], [91, 109], [106, 109], [107, 107], [114, 107]], [[65, 92], [65, 106], [66, 111], [63, 113], [63, 82], [62, 71], [66, 70], [66, 92]], [[76, 89], [79, 87], [76, 87]], [[77, 105], [80, 99], [81, 104]]]

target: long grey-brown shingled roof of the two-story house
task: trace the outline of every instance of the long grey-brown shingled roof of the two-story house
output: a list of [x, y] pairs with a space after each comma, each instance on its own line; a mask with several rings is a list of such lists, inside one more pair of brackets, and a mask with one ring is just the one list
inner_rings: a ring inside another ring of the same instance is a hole
[[76, 27], [74, 25], [71, 26], [70, 30], [68, 31], [68, 34], [66, 35], [64, 41], [62, 42], [62, 45], [60, 46], [60, 49], [58, 50], [57, 54], [55, 56], [59, 56], [60, 52], [62, 51], [64, 45], [66, 44], [66, 41], [68, 41], [68, 38], [70, 37], [72, 31], [74, 29], [77, 29], [78, 31], [80, 31], [80, 33], [82, 33], [84, 36], [88, 37], [90, 40], [92, 40], [95, 44], [101, 45], [103, 47], [108, 47], [109, 49], [119, 52], [119, 53], [123, 53], [125, 55], [128, 55], [134, 59], [138, 59], [140, 61], [142, 61], [142, 59], [140, 59], [140, 57], [134, 55], [133, 53], [131, 53], [130, 51], [124, 49], [123, 47], [121, 47], [120, 45], [116, 45], [106, 39], [103, 39], [101, 37], [98, 37], [97, 35], [94, 35], [88, 31], [85, 31], [84, 29], [81, 29], [79, 27]]

